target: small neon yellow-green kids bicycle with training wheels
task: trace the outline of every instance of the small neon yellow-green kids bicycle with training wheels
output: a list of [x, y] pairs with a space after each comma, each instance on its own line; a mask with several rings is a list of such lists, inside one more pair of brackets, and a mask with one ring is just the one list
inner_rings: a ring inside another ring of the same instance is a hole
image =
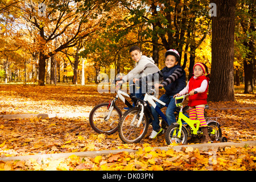
[[[195, 92], [196, 93], [196, 92]], [[175, 104], [177, 107], [180, 107], [179, 111], [179, 117], [177, 119], [177, 122], [173, 125], [170, 125], [168, 129], [165, 132], [165, 138], [166, 143], [182, 143], [187, 144], [188, 140], [190, 140], [192, 137], [203, 137], [203, 131], [201, 130], [200, 121], [199, 120], [192, 120], [187, 117], [183, 113], [183, 102], [185, 99], [189, 96], [189, 94], [186, 94], [184, 96], [175, 97]], [[177, 100], [181, 100], [182, 102], [177, 104]], [[208, 109], [209, 106], [207, 105], [205, 109]], [[222, 137], [220, 123], [217, 122], [217, 118], [209, 118], [206, 117], [205, 120], [207, 121], [208, 126], [208, 134], [213, 142], [221, 141], [226, 142], [225, 137]]]

